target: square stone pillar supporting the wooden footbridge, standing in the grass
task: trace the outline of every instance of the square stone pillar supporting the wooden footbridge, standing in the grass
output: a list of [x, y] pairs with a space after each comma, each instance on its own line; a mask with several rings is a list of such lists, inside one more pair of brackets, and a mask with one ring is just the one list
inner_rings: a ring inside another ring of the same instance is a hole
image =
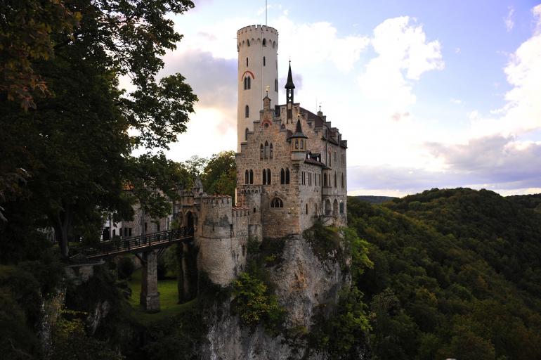
[[146, 311], [157, 312], [159, 311], [157, 250], [143, 252], [142, 265], [141, 298], [139, 302]]

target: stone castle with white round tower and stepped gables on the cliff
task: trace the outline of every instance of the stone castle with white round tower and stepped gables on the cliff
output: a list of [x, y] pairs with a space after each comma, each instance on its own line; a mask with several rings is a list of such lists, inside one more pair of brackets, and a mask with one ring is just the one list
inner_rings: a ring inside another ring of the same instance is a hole
[[[278, 104], [278, 31], [242, 27], [237, 51], [236, 201], [207, 194], [196, 181], [173, 204], [171, 219], [194, 229], [193, 243], [182, 245], [186, 298], [197, 293], [194, 268], [228, 285], [245, 268], [249, 240], [300, 234], [315, 221], [346, 225], [347, 141], [321, 111], [294, 102], [291, 64], [286, 102]], [[169, 229], [169, 220], [148, 219], [136, 209], [133, 221], [117, 225], [121, 236], [131, 236], [132, 229], [133, 235], [152, 231], [147, 224]]]

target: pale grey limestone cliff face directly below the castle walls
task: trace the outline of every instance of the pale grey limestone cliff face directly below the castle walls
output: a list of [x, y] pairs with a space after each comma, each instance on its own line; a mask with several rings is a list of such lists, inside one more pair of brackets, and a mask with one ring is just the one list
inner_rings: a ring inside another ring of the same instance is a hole
[[[270, 240], [272, 241], [272, 240]], [[341, 271], [337, 259], [322, 262], [301, 235], [285, 241], [280, 264], [270, 269], [278, 302], [287, 309], [287, 328], [311, 330], [311, 317], [322, 304], [335, 304], [339, 291], [349, 286], [349, 274]], [[253, 332], [241, 328], [238, 316], [232, 316], [229, 302], [214, 309], [201, 359], [322, 359], [320, 354], [306, 355], [306, 344], [290, 345], [282, 335], [273, 338], [258, 326]]]

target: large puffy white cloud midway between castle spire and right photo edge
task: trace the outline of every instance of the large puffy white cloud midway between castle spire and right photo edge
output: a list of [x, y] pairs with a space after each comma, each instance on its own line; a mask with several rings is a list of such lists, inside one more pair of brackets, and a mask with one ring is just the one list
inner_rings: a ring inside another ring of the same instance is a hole
[[426, 41], [422, 25], [408, 16], [379, 24], [370, 43], [378, 56], [366, 65], [358, 83], [365, 98], [386, 102], [392, 112], [415, 103], [414, 80], [444, 67], [439, 41]]

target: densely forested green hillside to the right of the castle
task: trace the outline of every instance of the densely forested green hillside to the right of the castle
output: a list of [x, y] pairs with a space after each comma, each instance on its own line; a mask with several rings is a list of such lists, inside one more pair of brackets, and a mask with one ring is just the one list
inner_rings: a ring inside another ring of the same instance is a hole
[[374, 262], [356, 284], [374, 358], [541, 359], [541, 214], [524, 203], [468, 188], [350, 198]]

